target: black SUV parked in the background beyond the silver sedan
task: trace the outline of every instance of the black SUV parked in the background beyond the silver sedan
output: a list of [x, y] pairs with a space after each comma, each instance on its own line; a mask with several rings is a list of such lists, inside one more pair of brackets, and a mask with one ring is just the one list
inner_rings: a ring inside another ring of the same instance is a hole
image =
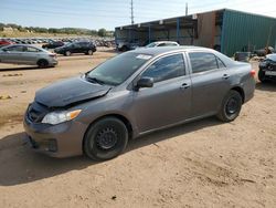
[[72, 53], [85, 53], [87, 55], [92, 55], [94, 52], [96, 52], [96, 50], [97, 49], [93, 42], [73, 42], [56, 48], [54, 52], [67, 56]]

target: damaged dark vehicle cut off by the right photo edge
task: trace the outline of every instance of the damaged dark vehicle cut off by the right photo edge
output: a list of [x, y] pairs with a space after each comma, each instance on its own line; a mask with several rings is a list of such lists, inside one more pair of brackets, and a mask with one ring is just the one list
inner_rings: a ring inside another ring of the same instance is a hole
[[276, 54], [268, 54], [259, 62], [258, 80], [266, 82], [267, 80], [276, 80]]

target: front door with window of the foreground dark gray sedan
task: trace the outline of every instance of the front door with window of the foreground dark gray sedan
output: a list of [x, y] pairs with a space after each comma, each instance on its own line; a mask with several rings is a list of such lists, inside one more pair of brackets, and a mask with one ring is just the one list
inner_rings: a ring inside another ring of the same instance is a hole
[[153, 87], [134, 91], [132, 110], [139, 132], [160, 128], [190, 116], [191, 80], [183, 53], [153, 62], [141, 76], [153, 77]]

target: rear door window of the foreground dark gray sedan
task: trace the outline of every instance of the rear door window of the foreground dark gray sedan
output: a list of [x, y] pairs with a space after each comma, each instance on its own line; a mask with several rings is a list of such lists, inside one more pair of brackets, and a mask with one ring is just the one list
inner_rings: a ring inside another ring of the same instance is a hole
[[216, 58], [212, 53], [192, 52], [189, 53], [189, 56], [193, 73], [217, 69]]

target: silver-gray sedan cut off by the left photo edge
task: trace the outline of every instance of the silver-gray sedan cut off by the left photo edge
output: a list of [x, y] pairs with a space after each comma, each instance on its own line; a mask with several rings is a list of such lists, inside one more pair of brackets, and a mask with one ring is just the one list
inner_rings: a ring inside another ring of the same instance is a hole
[[55, 66], [57, 64], [55, 53], [26, 44], [11, 44], [1, 48], [0, 62], [38, 65], [39, 67]]

